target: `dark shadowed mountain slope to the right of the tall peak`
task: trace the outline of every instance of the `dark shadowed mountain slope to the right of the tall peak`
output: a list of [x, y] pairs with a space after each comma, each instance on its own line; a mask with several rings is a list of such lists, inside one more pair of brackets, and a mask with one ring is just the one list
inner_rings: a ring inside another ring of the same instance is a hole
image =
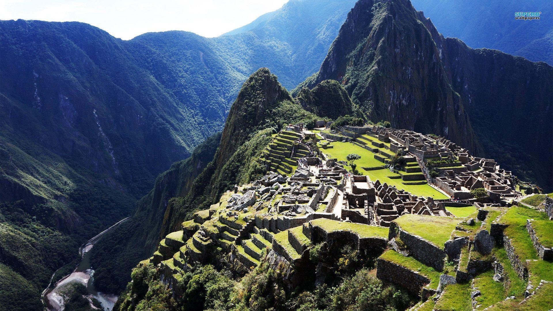
[[553, 189], [553, 68], [497, 50], [468, 48], [447, 38], [445, 63], [466, 99], [480, 154], [505, 163], [519, 178]]

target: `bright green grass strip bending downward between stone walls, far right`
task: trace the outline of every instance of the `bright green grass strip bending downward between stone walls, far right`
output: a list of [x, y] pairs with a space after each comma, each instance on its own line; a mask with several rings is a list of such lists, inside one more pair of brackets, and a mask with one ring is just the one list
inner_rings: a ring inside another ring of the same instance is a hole
[[499, 219], [499, 222], [508, 225], [504, 232], [513, 240], [515, 252], [522, 260], [538, 259], [538, 253], [526, 230], [527, 219], [547, 220], [547, 215], [545, 212], [524, 206], [513, 206]]

